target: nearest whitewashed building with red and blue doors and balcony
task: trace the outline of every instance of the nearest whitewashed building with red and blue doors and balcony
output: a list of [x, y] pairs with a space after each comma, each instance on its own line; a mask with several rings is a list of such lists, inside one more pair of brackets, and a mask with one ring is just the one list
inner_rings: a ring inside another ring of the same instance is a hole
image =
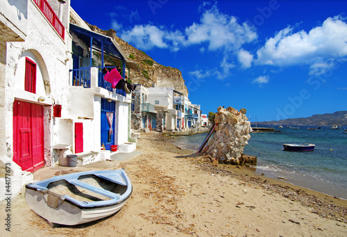
[[102, 70], [119, 66], [125, 77], [137, 66], [69, 2], [0, 2], [0, 179], [11, 174], [12, 196], [40, 167], [69, 165], [67, 155], [86, 164], [108, 158], [112, 145], [136, 148], [130, 93], [111, 88]]

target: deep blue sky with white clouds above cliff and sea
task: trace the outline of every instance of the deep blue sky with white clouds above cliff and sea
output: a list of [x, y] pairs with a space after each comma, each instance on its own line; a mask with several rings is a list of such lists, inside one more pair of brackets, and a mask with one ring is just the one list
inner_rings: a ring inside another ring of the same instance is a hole
[[86, 22], [182, 72], [192, 104], [251, 122], [347, 110], [347, 1], [71, 0]]

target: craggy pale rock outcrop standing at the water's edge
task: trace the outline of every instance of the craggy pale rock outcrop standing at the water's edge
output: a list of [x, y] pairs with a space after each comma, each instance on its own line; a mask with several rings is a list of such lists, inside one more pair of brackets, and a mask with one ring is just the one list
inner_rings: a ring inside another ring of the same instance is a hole
[[248, 144], [252, 131], [251, 122], [245, 114], [245, 108], [237, 111], [232, 107], [219, 107], [214, 118], [217, 124], [214, 135], [203, 152], [210, 154], [219, 163], [242, 165], [244, 146]]

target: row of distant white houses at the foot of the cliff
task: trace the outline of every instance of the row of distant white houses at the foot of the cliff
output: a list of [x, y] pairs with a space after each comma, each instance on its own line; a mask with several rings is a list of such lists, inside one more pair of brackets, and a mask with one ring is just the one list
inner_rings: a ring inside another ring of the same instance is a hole
[[133, 130], [162, 132], [201, 128], [200, 105], [192, 104], [174, 88], [137, 85], [133, 94]]

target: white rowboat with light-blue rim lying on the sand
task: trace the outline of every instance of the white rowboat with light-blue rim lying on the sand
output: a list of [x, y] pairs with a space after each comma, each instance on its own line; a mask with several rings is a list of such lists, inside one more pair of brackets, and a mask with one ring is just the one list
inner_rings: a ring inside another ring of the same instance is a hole
[[75, 225], [119, 211], [133, 192], [126, 172], [76, 172], [26, 185], [26, 204], [50, 224]]

